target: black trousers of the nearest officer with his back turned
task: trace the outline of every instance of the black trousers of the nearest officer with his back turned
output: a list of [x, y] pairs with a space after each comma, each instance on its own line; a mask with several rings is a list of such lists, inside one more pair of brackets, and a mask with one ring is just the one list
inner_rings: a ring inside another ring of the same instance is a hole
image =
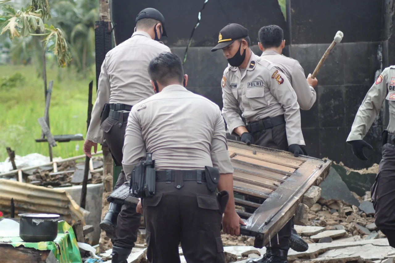
[[222, 214], [216, 193], [205, 182], [181, 185], [177, 189], [174, 182], [156, 182], [156, 194], [143, 199], [147, 259], [150, 263], [179, 263], [181, 242], [187, 262], [224, 263]]

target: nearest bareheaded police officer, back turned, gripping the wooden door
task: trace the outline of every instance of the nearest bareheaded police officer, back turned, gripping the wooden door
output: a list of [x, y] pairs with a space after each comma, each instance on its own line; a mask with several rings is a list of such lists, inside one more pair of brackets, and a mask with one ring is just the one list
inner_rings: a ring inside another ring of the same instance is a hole
[[[184, 86], [181, 59], [162, 53], [149, 64], [151, 84], [158, 94], [137, 103], [130, 111], [123, 148], [123, 169], [130, 175], [147, 152], [156, 168], [156, 191], [144, 197], [142, 207], [147, 258], [154, 263], [180, 262], [179, 243], [188, 262], [223, 263], [223, 230], [239, 235], [243, 220], [233, 199], [233, 167], [225, 124], [219, 107]], [[205, 169], [205, 167], [214, 167]], [[209, 171], [209, 172], [208, 172]], [[229, 192], [224, 209], [215, 188]], [[141, 211], [141, 203], [137, 206]]]

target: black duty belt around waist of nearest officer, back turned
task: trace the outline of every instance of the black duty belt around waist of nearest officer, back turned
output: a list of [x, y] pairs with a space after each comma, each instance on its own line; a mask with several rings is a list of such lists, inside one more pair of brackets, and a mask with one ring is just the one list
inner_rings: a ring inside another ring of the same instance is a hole
[[161, 170], [156, 171], [156, 182], [175, 181], [176, 175], [181, 175], [183, 181], [207, 182], [204, 170]]

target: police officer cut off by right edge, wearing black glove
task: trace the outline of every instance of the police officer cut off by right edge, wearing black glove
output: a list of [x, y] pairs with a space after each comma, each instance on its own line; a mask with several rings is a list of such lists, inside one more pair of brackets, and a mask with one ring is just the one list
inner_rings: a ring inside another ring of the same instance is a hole
[[377, 117], [384, 100], [389, 105], [389, 124], [382, 133], [382, 160], [371, 189], [375, 209], [374, 223], [387, 236], [389, 245], [395, 248], [395, 66], [389, 66], [378, 76], [369, 89], [355, 116], [347, 143], [361, 160], [368, 160], [363, 148], [372, 149], [363, 140]]

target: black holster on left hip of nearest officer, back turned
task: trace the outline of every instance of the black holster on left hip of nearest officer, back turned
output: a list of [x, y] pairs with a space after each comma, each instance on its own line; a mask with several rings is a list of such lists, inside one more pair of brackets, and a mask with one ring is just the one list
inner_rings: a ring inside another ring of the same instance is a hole
[[137, 198], [153, 196], [155, 194], [155, 161], [152, 154], [147, 152], [145, 161], [140, 161], [133, 169], [130, 177], [132, 195]]

